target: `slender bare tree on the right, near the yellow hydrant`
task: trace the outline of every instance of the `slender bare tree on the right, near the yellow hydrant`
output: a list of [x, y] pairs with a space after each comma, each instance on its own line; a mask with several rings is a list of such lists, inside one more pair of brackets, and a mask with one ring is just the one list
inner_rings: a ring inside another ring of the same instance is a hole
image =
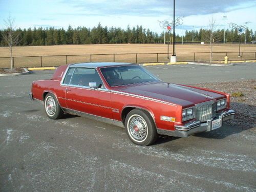
[[219, 36], [217, 33], [215, 33], [216, 28], [218, 27], [218, 25], [216, 24], [216, 20], [214, 17], [209, 18], [209, 25], [208, 25], [208, 31], [205, 34], [205, 40], [208, 41], [209, 44], [209, 48], [210, 48], [210, 62], [212, 61], [212, 49], [213, 49], [213, 43], [214, 41], [217, 41]]

